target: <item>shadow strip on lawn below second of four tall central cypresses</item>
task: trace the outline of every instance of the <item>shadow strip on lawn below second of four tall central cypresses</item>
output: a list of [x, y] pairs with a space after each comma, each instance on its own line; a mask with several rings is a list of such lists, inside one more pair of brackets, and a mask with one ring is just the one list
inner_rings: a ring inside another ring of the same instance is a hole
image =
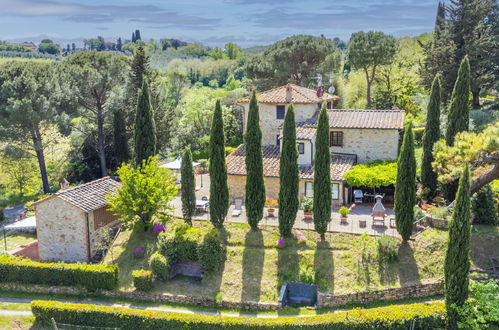
[[263, 234], [260, 229], [249, 230], [244, 243], [241, 301], [260, 300], [264, 260]]

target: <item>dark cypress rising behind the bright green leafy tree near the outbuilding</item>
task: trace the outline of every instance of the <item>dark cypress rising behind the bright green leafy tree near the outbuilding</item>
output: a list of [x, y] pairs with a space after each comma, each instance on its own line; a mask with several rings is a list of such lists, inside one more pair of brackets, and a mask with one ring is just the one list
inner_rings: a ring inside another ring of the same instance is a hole
[[135, 165], [139, 166], [143, 160], [156, 155], [156, 125], [149, 87], [145, 80], [139, 89], [134, 131]]

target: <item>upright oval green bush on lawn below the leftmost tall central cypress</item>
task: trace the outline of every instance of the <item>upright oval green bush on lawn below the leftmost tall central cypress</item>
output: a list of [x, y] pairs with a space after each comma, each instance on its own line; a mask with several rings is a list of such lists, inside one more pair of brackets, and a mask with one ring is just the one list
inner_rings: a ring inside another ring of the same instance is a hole
[[197, 250], [199, 263], [205, 271], [213, 272], [220, 268], [225, 258], [225, 247], [218, 231], [213, 229], [206, 234]]

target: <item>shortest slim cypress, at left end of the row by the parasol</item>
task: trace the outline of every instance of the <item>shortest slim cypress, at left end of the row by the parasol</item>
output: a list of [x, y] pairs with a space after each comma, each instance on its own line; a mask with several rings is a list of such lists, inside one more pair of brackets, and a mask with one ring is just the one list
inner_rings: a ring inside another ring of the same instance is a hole
[[192, 226], [192, 216], [196, 211], [196, 179], [192, 168], [192, 155], [189, 147], [182, 154], [182, 167], [180, 169], [182, 178], [182, 214], [184, 221]]

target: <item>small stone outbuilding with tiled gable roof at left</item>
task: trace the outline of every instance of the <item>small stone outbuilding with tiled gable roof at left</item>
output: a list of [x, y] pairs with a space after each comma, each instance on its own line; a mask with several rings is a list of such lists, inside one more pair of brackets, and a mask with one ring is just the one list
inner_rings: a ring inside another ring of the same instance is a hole
[[106, 201], [119, 185], [104, 177], [33, 203], [40, 259], [89, 262], [99, 250], [104, 232], [119, 224]]

